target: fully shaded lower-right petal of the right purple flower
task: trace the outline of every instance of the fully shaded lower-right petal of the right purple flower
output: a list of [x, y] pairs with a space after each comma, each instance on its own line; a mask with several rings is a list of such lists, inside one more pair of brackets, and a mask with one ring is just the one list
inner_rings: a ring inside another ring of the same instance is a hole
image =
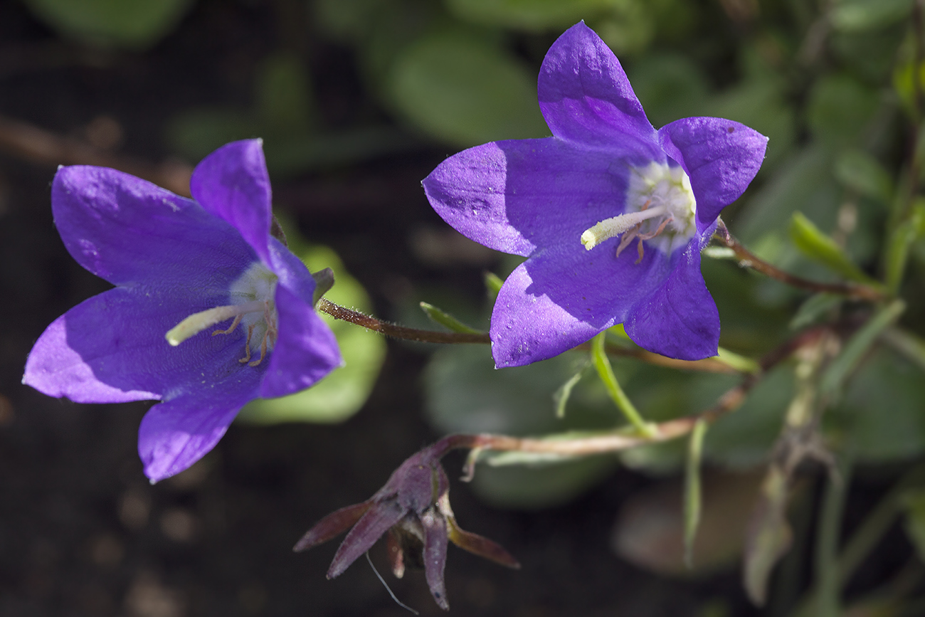
[[640, 347], [679, 360], [716, 355], [720, 314], [700, 274], [701, 243], [709, 242], [711, 235], [675, 252], [672, 273], [627, 315], [623, 327]]

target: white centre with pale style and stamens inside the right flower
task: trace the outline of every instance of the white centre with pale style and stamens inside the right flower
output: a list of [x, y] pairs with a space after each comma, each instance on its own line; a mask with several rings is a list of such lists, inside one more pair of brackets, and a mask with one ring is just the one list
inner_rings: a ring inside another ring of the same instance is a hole
[[623, 235], [617, 246], [618, 256], [634, 239], [639, 241], [640, 260], [643, 241], [671, 253], [697, 231], [696, 214], [697, 200], [685, 170], [653, 161], [647, 167], [630, 168], [626, 211], [586, 229], [581, 243], [590, 251], [605, 240]]

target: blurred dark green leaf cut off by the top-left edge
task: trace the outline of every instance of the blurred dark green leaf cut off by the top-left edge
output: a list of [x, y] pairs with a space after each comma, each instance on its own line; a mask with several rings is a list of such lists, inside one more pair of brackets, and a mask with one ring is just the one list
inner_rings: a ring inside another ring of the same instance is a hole
[[165, 37], [192, 0], [23, 0], [36, 17], [82, 43], [142, 50]]

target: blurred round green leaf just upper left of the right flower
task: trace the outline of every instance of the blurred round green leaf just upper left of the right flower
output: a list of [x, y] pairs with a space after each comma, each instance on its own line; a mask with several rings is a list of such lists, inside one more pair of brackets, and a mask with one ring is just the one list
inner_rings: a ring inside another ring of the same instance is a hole
[[469, 146], [549, 134], [532, 71], [461, 32], [436, 32], [408, 46], [388, 82], [401, 113], [439, 140]]

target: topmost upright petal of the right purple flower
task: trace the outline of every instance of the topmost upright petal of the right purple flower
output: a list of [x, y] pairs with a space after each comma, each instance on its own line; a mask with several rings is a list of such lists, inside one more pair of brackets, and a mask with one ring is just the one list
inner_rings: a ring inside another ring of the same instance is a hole
[[576, 23], [552, 43], [539, 69], [539, 108], [552, 134], [586, 148], [636, 142], [664, 160], [655, 129], [611, 48]]

